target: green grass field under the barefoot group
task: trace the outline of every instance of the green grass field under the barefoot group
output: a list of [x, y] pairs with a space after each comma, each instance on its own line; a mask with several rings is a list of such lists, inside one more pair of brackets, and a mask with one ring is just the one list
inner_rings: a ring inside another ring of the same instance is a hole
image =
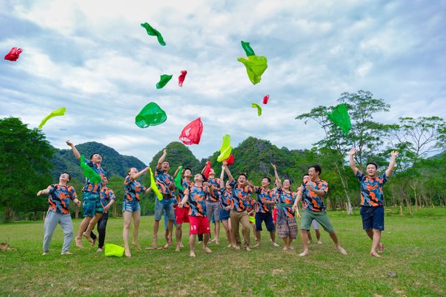
[[[231, 250], [224, 239], [210, 245], [212, 254], [197, 248], [194, 259], [187, 246], [179, 253], [132, 250], [132, 258], [108, 258], [91, 248], [77, 250], [74, 243], [74, 254], [61, 256], [60, 227], [43, 257], [43, 222], [0, 224], [0, 242], [15, 249], [0, 252], [0, 296], [445, 296], [446, 209], [403, 217], [397, 209], [386, 211], [386, 251], [379, 259], [369, 257], [371, 241], [358, 214], [329, 213], [346, 256], [334, 251], [323, 232], [323, 245], [312, 244], [305, 258], [298, 257], [300, 238], [294, 251], [284, 252], [270, 245], [266, 231], [259, 249]], [[109, 220], [106, 242], [123, 244], [122, 225], [121, 219]], [[151, 244], [152, 226], [153, 217], [142, 218], [142, 246]], [[159, 238], [164, 243], [162, 232]]]

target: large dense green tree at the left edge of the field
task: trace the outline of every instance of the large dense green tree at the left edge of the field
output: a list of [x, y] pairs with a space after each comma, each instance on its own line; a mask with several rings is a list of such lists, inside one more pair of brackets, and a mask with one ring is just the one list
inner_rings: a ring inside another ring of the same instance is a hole
[[52, 182], [53, 153], [41, 130], [31, 130], [17, 118], [0, 119], [0, 206], [6, 221], [16, 209], [45, 208], [46, 201], [37, 199], [36, 192]]

